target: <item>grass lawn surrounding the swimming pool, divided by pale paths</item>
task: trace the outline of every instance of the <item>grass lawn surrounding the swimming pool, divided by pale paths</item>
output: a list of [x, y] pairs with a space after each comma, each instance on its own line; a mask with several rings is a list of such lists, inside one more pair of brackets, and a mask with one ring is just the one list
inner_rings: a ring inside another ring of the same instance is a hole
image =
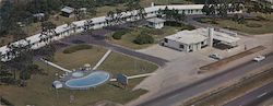
[[[106, 49], [96, 46], [93, 46], [92, 49], [79, 50], [72, 54], [63, 54], [60, 50], [56, 52], [55, 63], [67, 69], [75, 69], [82, 67], [84, 63], [95, 66], [105, 52]], [[143, 79], [130, 80], [129, 86], [126, 90], [117, 87], [115, 82], [108, 82], [107, 84], [87, 91], [70, 91], [66, 89], [56, 91], [51, 87], [51, 83], [57, 79], [55, 74], [62, 72], [41, 61], [37, 60], [35, 62], [46, 71], [47, 75], [33, 75], [32, 79], [27, 81], [26, 87], [0, 86], [0, 95], [15, 106], [25, 106], [27, 104], [36, 106], [86, 106], [104, 99], [124, 104], [147, 92], [144, 90], [132, 91]], [[112, 73], [112, 75], [116, 73], [133, 75], [153, 72], [157, 69], [157, 66], [111, 52], [98, 69], [108, 71]], [[72, 103], [70, 103], [71, 95], [74, 96]]]

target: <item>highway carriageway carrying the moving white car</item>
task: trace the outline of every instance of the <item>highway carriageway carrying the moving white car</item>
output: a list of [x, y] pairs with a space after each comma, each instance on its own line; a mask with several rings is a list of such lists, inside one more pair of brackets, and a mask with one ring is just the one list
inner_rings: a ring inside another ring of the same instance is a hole
[[266, 63], [273, 62], [273, 54], [266, 57], [268, 58], [261, 62], [248, 61], [236, 68], [225, 70], [221, 73], [206, 78], [202, 81], [195, 82], [188, 86], [180, 87], [176, 91], [166, 93], [164, 95], [161, 95], [152, 99], [147, 99], [146, 102], [141, 103], [138, 106], [171, 106], [177, 103], [183, 102], [185, 99], [192, 97], [197, 94], [200, 94], [206, 90], [210, 90], [216, 85], [219, 85], [237, 76], [241, 76]]

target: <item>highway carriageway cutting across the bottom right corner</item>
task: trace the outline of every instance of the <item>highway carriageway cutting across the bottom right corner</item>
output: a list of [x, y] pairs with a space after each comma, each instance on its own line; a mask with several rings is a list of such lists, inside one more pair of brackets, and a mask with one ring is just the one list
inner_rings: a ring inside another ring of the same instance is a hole
[[224, 106], [258, 106], [262, 102], [273, 97], [273, 82], [259, 87]]

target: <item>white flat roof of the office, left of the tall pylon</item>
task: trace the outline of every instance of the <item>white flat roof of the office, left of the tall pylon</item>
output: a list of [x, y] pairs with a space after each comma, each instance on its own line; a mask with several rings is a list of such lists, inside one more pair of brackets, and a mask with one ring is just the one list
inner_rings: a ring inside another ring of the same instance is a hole
[[204, 28], [198, 28], [194, 31], [181, 31], [165, 38], [188, 45], [198, 44], [207, 39], [207, 37], [202, 34]]

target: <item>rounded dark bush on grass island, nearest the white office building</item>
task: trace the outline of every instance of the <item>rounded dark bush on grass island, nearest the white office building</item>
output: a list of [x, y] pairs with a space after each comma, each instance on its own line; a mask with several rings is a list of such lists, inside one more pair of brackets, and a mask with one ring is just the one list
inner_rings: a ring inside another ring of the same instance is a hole
[[135, 44], [139, 44], [139, 45], [153, 44], [154, 43], [154, 38], [151, 35], [141, 34], [133, 42]]

